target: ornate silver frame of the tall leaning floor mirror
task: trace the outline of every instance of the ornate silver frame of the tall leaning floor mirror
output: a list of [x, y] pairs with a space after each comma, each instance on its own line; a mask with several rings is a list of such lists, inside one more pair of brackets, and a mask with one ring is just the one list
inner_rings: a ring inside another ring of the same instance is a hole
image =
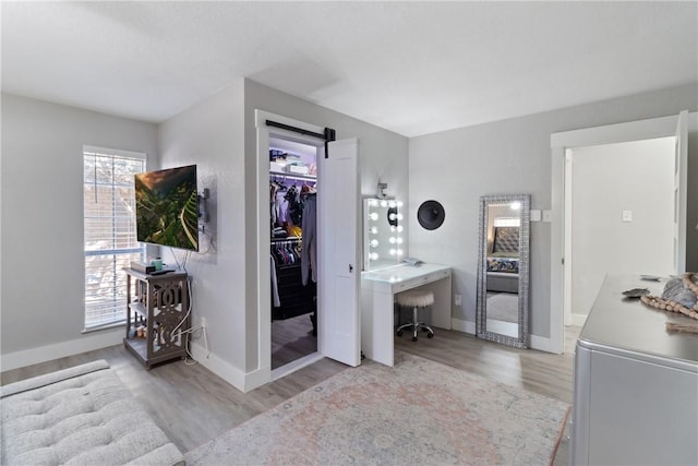
[[[488, 207], [494, 204], [520, 202], [519, 211], [519, 302], [518, 302], [518, 337], [490, 332], [486, 328], [488, 310]], [[517, 348], [528, 348], [528, 313], [529, 313], [529, 243], [531, 220], [530, 194], [483, 195], [480, 198], [479, 249], [478, 249], [478, 298], [476, 308], [476, 335], [479, 338], [501, 343]]]

